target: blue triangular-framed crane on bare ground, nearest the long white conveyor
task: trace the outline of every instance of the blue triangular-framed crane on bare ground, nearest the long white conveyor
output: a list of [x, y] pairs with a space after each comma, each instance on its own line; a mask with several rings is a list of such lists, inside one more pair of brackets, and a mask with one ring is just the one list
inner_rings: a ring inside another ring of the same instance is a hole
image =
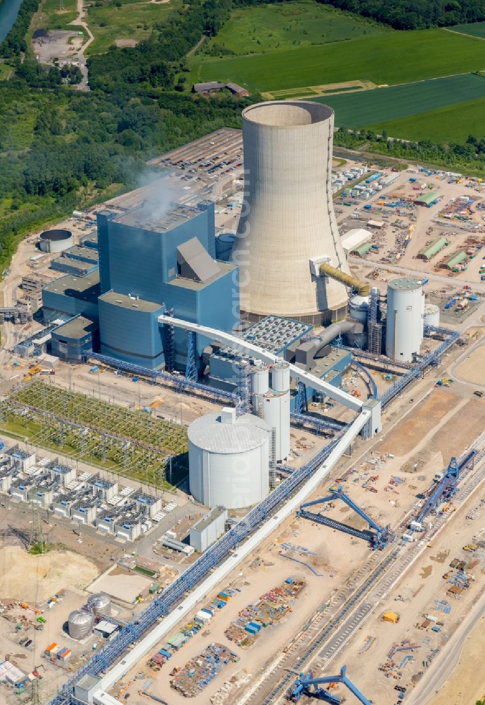
[[[379, 524], [376, 524], [371, 517], [365, 513], [363, 509], [361, 509], [358, 505], [355, 504], [351, 498], [345, 494], [344, 489], [342, 488], [341, 485], [332, 485], [332, 487], [329, 487], [329, 495], [326, 497], [323, 497], [321, 499], [314, 499], [312, 502], [306, 502], [305, 504], [302, 504], [296, 513], [298, 517], [303, 517], [303, 519], [309, 519], [310, 521], [317, 522], [318, 524], [323, 524], [324, 526], [331, 527], [332, 529], [338, 529], [339, 531], [343, 531], [346, 534], [351, 534], [351, 536], [354, 536], [358, 539], [364, 539], [364, 541], [369, 541], [370, 544], [372, 545], [372, 548], [379, 548], [379, 550], [382, 551], [382, 548], [386, 546], [387, 542], [392, 539], [392, 534], [390, 530], [390, 525], [386, 526], [385, 528], [380, 527]], [[335, 519], [330, 519], [329, 517], [325, 517], [322, 514], [314, 514], [313, 512], [308, 511], [308, 507], [313, 507], [316, 504], [323, 504], [325, 502], [333, 502], [336, 499], [341, 499], [341, 501], [345, 502], [348, 507], [354, 510], [360, 517], [367, 522], [369, 525], [369, 529], [354, 529], [353, 527], [349, 527], [346, 524], [343, 524], [342, 522], [338, 522]], [[371, 531], [370, 529], [374, 529], [374, 531]]]

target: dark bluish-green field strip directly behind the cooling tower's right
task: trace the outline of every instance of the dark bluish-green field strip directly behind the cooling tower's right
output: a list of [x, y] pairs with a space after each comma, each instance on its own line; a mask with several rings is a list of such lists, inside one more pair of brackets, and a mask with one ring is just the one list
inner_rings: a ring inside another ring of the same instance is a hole
[[465, 73], [312, 100], [331, 106], [339, 127], [360, 128], [480, 97], [485, 98], [485, 78]]

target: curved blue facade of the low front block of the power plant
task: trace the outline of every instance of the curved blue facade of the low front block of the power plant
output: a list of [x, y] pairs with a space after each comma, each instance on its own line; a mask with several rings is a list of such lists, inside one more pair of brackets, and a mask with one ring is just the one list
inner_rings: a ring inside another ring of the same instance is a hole
[[99, 298], [100, 348], [103, 355], [158, 369], [164, 362], [158, 316], [165, 310], [129, 309]]

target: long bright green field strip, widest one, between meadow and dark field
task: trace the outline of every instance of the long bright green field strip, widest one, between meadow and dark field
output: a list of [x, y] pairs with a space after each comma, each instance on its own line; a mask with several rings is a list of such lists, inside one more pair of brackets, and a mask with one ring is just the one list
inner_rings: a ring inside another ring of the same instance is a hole
[[485, 42], [446, 30], [422, 30], [202, 63], [199, 58], [191, 76], [194, 82], [231, 80], [255, 92], [350, 80], [392, 85], [481, 69]]

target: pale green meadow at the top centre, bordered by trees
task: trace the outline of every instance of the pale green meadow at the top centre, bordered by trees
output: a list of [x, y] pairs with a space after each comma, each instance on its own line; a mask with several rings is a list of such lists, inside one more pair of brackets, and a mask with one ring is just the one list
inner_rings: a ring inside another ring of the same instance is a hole
[[258, 54], [268, 49], [341, 42], [384, 31], [315, 2], [260, 5], [235, 10], [218, 36], [210, 39], [204, 49], [210, 53], [217, 44], [223, 44], [234, 54]]

